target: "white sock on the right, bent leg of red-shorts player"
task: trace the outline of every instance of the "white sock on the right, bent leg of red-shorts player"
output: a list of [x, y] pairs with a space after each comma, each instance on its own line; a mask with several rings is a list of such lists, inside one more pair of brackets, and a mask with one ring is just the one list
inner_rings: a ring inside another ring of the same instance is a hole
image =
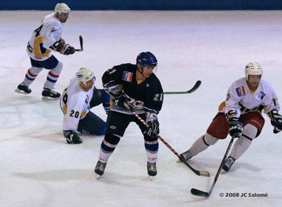
[[247, 149], [250, 147], [252, 140], [256, 138], [257, 129], [254, 125], [247, 124], [243, 128], [242, 135], [236, 140], [232, 150], [231, 157], [235, 160], [238, 159], [241, 155], [243, 155]]

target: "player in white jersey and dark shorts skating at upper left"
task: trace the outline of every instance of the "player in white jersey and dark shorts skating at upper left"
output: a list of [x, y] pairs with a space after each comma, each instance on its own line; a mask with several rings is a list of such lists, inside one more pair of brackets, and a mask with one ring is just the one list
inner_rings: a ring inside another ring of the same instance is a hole
[[69, 18], [71, 9], [65, 3], [57, 3], [54, 11], [43, 18], [41, 25], [33, 31], [27, 43], [26, 51], [30, 57], [31, 67], [27, 70], [24, 81], [15, 90], [18, 93], [31, 93], [28, 86], [45, 68], [50, 72], [44, 84], [42, 98], [53, 100], [60, 98], [60, 93], [54, 91], [53, 87], [59, 78], [63, 64], [52, 55], [52, 51], [69, 55], [75, 53], [75, 48], [66, 44], [61, 38], [63, 23]]

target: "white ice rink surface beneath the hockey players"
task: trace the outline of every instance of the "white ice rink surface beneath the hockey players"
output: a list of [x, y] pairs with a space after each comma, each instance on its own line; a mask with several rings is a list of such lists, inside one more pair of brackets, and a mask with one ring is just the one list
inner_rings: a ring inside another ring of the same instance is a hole
[[[94, 168], [103, 136], [81, 135], [68, 145], [62, 135], [59, 101], [42, 101], [48, 71], [42, 71], [32, 93], [14, 92], [30, 66], [26, 43], [51, 11], [0, 11], [0, 206], [1, 207], [281, 207], [282, 133], [270, 120], [248, 151], [222, 172], [208, 199], [191, 188], [208, 191], [230, 136], [189, 163], [207, 170], [199, 177], [159, 142], [157, 176], [150, 181], [139, 128], [130, 124], [105, 173]], [[205, 133], [230, 84], [244, 77], [248, 62], [258, 62], [263, 79], [282, 102], [282, 11], [72, 11], [62, 38], [84, 52], [54, 55], [64, 64], [55, 90], [62, 92], [80, 67], [102, 75], [121, 63], [134, 63], [139, 52], [153, 52], [164, 91], [190, 89], [192, 94], [165, 95], [159, 113], [160, 135], [179, 154]], [[103, 120], [102, 105], [92, 109]], [[220, 196], [224, 193], [224, 197]], [[268, 197], [226, 197], [256, 193]]]

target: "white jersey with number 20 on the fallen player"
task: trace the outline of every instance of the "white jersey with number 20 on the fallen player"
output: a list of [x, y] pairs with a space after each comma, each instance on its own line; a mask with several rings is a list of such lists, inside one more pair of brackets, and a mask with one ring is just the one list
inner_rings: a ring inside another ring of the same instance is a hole
[[77, 130], [79, 120], [90, 110], [93, 90], [94, 86], [86, 92], [79, 87], [77, 78], [71, 79], [60, 99], [60, 106], [64, 112], [63, 130]]

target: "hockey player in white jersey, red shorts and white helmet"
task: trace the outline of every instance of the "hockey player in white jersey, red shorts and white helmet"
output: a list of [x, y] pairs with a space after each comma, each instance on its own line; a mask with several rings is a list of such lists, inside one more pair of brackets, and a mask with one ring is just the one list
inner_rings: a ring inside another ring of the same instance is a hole
[[231, 84], [225, 102], [220, 104], [219, 112], [205, 135], [180, 155], [182, 159], [190, 159], [219, 139], [225, 139], [229, 133], [232, 137], [238, 138], [223, 165], [223, 169], [229, 171], [235, 160], [246, 152], [253, 139], [260, 134], [264, 125], [262, 109], [271, 120], [273, 132], [278, 133], [282, 130], [277, 94], [269, 83], [261, 80], [260, 64], [248, 63], [245, 67], [245, 76]]

